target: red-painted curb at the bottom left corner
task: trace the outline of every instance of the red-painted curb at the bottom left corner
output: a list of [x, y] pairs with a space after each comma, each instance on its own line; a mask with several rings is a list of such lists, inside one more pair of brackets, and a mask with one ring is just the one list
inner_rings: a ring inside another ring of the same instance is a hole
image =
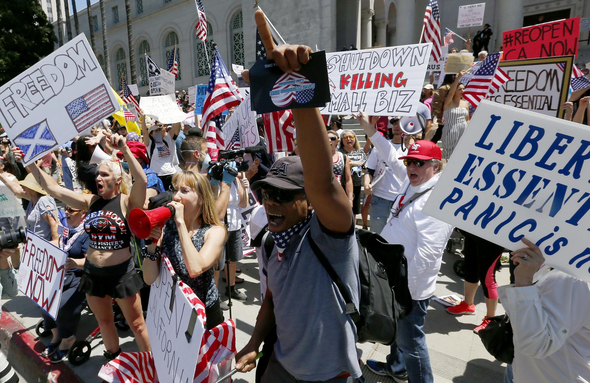
[[0, 343], [8, 361], [28, 382], [83, 383], [65, 363], [51, 363], [41, 357], [43, 344], [2, 308]]

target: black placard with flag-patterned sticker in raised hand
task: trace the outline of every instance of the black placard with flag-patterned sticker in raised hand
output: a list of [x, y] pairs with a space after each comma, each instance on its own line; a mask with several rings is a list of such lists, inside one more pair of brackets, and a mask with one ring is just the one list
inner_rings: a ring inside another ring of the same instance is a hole
[[281, 71], [273, 60], [260, 60], [250, 69], [252, 110], [258, 114], [286, 109], [323, 108], [330, 102], [326, 51], [309, 55], [297, 72]]

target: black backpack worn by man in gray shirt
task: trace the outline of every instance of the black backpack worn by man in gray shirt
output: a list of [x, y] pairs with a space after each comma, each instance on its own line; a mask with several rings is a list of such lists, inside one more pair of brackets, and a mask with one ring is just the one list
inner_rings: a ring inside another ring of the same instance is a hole
[[360, 306], [357, 309], [322, 250], [309, 238], [317, 259], [332, 278], [346, 303], [346, 313], [356, 325], [358, 342], [391, 345], [396, 338], [396, 322], [412, 311], [408, 288], [408, 261], [404, 246], [386, 242], [369, 230], [356, 229], [359, 245]]

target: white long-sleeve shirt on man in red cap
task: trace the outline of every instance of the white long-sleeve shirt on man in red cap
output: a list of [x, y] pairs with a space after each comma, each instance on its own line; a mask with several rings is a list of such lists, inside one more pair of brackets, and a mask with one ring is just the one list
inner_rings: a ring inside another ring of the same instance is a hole
[[[404, 164], [400, 165], [398, 161], [391, 141], [377, 133], [373, 134], [371, 142], [383, 159], [388, 161], [393, 171], [406, 173]], [[406, 179], [399, 194], [395, 196], [392, 213], [401, 207], [404, 200], [407, 201], [414, 194], [434, 187], [439, 178], [440, 173], [418, 186], [412, 186]], [[398, 217], [394, 218], [390, 214], [389, 222], [381, 232], [381, 236], [387, 242], [404, 245], [404, 255], [408, 259], [408, 287], [415, 301], [430, 298], [434, 293], [438, 271], [441, 268], [442, 252], [453, 232], [452, 225], [422, 213], [430, 193], [431, 191], [424, 193], [408, 204]]]

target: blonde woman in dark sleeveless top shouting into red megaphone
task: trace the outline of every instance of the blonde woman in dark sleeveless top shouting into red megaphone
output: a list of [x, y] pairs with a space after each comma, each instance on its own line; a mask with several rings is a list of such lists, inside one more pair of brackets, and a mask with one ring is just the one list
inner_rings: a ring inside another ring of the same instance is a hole
[[224, 321], [213, 266], [221, 255], [227, 229], [219, 221], [207, 176], [183, 170], [174, 174], [172, 186], [168, 206], [173, 207], [173, 216], [163, 225], [162, 219], [152, 222], [149, 237], [156, 240], [143, 249], [143, 279], [152, 285], [160, 275], [160, 256], [168, 256], [176, 275], [204, 303], [207, 329], [211, 329]]

